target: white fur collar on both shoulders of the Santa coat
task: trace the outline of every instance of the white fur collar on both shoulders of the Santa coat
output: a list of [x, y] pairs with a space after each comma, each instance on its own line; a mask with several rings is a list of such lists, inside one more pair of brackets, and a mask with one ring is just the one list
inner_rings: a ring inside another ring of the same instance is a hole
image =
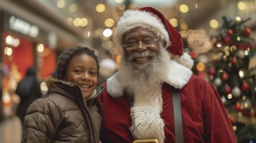
[[[192, 75], [191, 70], [185, 68], [185, 66], [182, 66], [181, 64], [178, 64], [175, 60], [171, 60], [168, 70], [169, 72], [166, 81], [163, 82], [174, 86], [174, 88], [182, 89]], [[108, 85], [106, 90], [113, 98], [118, 98], [123, 95], [125, 85], [121, 84], [123, 83], [120, 82], [121, 79], [120, 74], [117, 72], [106, 81]]]

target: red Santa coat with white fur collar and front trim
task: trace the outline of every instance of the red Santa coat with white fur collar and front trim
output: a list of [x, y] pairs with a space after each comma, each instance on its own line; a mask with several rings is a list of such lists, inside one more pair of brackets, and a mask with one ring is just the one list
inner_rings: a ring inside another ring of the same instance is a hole
[[180, 89], [184, 142], [237, 142], [225, 107], [210, 83], [174, 60], [167, 73], [159, 99], [135, 98], [133, 106], [125, 95], [125, 81], [120, 81], [119, 72], [103, 84], [104, 92], [99, 95], [104, 112], [101, 142], [131, 143], [152, 136], [161, 143], [176, 142], [172, 105], [175, 89]]

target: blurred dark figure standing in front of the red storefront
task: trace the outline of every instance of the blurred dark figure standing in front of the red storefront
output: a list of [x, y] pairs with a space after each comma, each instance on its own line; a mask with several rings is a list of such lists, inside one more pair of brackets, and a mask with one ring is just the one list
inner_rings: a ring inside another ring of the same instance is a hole
[[20, 97], [20, 103], [18, 104], [16, 115], [20, 117], [23, 126], [27, 108], [33, 101], [42, 96], [40, 91], [40, 82], [37, 79], [36, 66], [31, 66], [27, 69], [24, 79], [18, 83], [15, 92]]

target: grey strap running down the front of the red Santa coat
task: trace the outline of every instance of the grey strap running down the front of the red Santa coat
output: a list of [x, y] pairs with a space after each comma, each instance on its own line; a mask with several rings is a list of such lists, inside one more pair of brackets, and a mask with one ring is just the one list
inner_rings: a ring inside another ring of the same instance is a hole
[[172, 104], [174, 112], [174, 127], [175, 127], [175, 137], [176, 143], [183, 143], [183, 126], [182, 126], [182, 107], [180, 104], [180, 92], [175, 91], [172, 93]]

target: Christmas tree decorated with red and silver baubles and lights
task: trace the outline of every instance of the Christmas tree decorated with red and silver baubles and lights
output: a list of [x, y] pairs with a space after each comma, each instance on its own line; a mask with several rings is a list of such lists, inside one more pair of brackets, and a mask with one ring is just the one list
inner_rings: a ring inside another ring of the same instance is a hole
[[229, 113], [238, 142], [256, 142], [256, 52], [251, 44], [249, 19], [223, 17], [223, 25], [213, 36], [216, 57], [206, 65]]

